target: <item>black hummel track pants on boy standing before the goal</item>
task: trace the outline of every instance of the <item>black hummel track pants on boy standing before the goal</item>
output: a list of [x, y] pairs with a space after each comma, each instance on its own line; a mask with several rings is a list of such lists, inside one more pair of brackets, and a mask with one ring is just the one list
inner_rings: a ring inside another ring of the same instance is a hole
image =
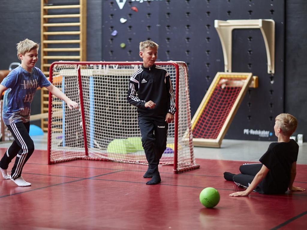
[[138, 116], [142, 134], [142, 146], [151, 170], [157, 169], [161, 156], [166, 149], [168, 124], [165, 119], [152, 119]]

